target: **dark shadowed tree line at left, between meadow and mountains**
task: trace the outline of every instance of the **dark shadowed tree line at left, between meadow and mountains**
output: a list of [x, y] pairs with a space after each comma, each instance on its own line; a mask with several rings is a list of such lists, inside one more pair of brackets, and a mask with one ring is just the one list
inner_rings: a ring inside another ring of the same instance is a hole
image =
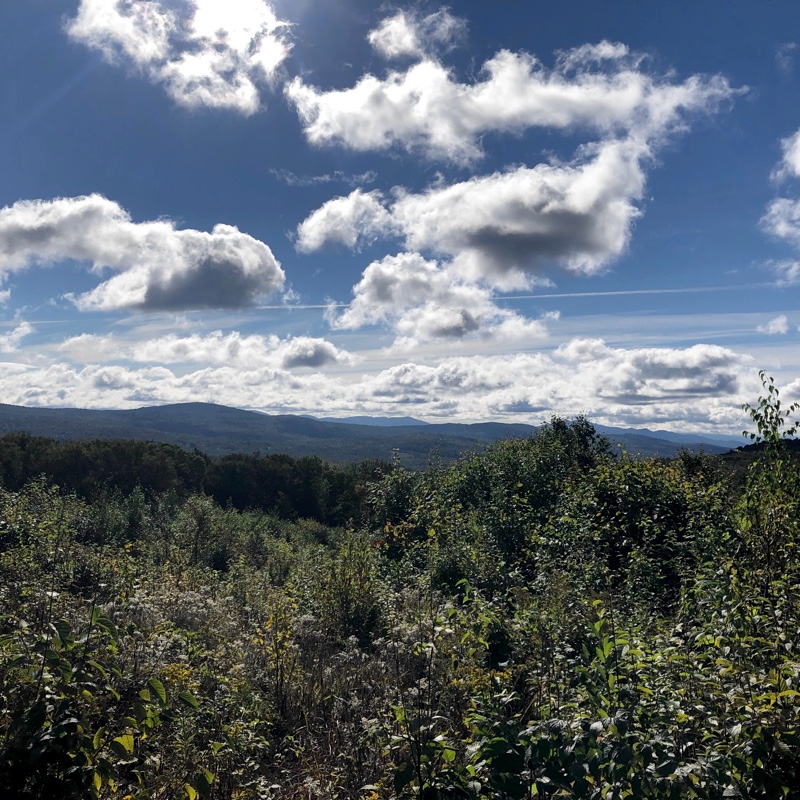
[[137, 487], [147, 497], [206, 494], [240, 511], [270, 511], [283, 519], [328, 525], [358, 522], [365, 487], [391, 470], [381, 461], [339, 466], [315, 456], [235, 453], [210, 458], [198, 450], [143, 441], [59, 442], [25, 433], [0, 437], [0, 483], [19, 490], [46, 476], [85, 500]]

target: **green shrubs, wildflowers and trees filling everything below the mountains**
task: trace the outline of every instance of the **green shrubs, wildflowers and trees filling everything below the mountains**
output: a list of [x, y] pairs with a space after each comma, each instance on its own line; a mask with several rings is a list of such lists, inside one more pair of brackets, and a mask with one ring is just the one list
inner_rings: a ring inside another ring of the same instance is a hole
[[3, 437], [0, 795], [800, 797], [762, 381], [746, 470], [580, 417], [418, 471]]

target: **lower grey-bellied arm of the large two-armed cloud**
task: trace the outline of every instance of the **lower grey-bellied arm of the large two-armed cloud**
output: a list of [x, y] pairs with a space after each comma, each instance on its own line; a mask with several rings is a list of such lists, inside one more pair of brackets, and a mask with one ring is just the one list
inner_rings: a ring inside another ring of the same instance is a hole
[[639, 211], [648, 148], [611, 141], [585, 148], [568, 164], [539, 164], [434, 186], [420, 194], [356, 190], [331, 200], [298, 228], [298, 247], [399, 234], [408, 250], [455, 259], [465, 279], [522, 288], [526, 273], [558, 264], [601, 271], [626, 248]]

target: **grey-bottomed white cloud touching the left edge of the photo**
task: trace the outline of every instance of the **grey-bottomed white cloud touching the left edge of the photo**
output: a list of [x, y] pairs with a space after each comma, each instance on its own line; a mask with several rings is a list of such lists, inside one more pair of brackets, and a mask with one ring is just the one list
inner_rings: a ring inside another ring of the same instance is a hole
[[70, 298], [84, 311], [241, 308], [285, 277], [267, 245], [231, 225], [206, 233], [168, 220], [134, 223], [96, 194], [0, 209], [0, 274], [65, 260], [119, 273]]

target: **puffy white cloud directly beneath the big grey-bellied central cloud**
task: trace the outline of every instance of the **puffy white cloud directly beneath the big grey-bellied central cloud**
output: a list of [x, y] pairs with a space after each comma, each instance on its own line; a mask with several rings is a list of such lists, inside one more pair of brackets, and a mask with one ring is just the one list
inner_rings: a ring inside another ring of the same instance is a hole
[[548, 336], [546, 322], [558, 318], [551, 314], [529, 320], [500, 308], [488, 288], [460, 279], [452, 264], [428, 261], [418, 253], [373, 262], [353, 287], [353, 295], [344, 310], [329, 307], [326, 317], [332, 327], [358, 329], [386, 323], [397, 334], [399, 348], [473, 335], [542, 341]]

